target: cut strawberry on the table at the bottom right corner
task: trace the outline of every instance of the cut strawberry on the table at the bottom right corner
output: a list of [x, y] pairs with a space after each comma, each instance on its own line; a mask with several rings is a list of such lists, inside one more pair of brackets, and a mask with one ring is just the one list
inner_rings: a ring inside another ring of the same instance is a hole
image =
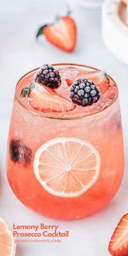
[[108, 251], [113, 256], [128, 255], [128, 214], [121, 217], [111, 237]]

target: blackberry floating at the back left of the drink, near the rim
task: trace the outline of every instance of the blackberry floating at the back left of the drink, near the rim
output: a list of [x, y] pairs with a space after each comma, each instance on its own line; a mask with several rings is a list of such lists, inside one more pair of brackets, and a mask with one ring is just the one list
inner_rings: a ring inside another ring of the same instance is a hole
[[52, 89], [57, 89], [61, 85], [61, 77], [52, 65], [46, 64], [40, 67], [35, 74], [35, 82], [39, 82]]

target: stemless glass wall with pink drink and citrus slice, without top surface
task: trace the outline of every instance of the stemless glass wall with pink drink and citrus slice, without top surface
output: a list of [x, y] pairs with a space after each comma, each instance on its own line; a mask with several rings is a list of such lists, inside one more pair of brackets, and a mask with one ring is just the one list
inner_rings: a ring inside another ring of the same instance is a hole
[[[97, 70], [54, 65], [69, 66]], [[70, 220], [93, 214], [113, 198], [123, 177], [117, 85], [108, 76], [116, 95], [104, 110], [59, 116], [35, 111], [20, 98], [21, 89], [30, 85], [36, 71], [22, 76], [16, 85], [7, 150], [10, 187], [25, 206], [44, 216]]]

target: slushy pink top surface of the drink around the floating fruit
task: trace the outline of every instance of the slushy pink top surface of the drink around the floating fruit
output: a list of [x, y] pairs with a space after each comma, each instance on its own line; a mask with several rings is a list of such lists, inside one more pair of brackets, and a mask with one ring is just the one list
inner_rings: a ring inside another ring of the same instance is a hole
[[[69, 86], [67, 85], [66, 79], [70, 79], [70, 78], [78, 78], [79, 76], [84, 76], [84, 75], [89, 75], [89, 73], [92, 72], [97, 72], [94, 71], [94, 69], [87, 69], [87, 68], [76, 68], [73, 66], [62, 66], [62, 67], [57, 67], [56, 68], [59, 70], [60, 75], [61, 75], [61, 80], [62, 80], [62, 84], [61, 86], [56, 89], [56, 92], [59, 93], [60, 95], [62, 95], [62, 97], [65, 97], [67, 100], [71, 101], [71, 99], [69, 98]], [[24, 76], [20, 82], [18, 82], [18, 87], [16, 89], [16, 94], [18, 99], [20, 99], [20, 101], [26, 105], [27, 107], [29, 107], [31, 110], [33, 110], [33, 108], [31, 108], [30, 105], [28, 105], [28, 100], [27, 98], [22, 99], [20, 97], [20, 93], [22, 88], [27, 87], [31, 84], [31, 82], [34, 80], [34, 76], [35, 76], [36, 71], [29, 73], [28, 75]], [[52, 116], [52, 117], [62, 117], [62, 118], [75, 118], [75, 117], [82, 117], [82, 116], [88, 116], [90, 114], [94, 114], [94, 113], [98, 113], [102, 110], [104, 110], [105, 108], [107, 108], [108, 106], [110, 106], [113, 101], [117, 98], [117, 94], [118, 94], [118, 89], [116, 84], [114, 83], [114, 81], [110, 78], [110, 85], [107, 87], [107, 90], [104, 94], [101, 95], [101, 98], [97, 101], [97, 103], [91, 105], [91, 106], [87, 106], [87, 107], [81, 107], [76, 105], [76, 108], [73, 111], [69, 111], [69, 112], [62, 112], [62, 113], [47, 113], [47, 116]], [[100, 83], [99, 86], [102, 86], [102, 84]]]

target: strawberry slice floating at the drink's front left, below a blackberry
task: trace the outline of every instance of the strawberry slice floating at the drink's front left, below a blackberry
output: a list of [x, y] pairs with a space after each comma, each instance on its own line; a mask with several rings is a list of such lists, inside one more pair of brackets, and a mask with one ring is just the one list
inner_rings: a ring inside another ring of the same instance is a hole
[[47, 86], [33, 82], [30, 87], [22, 89], [21, 97], [29, 97], [29, 104], [35, 110], [42, 112], [67, 112], [76, 107], [59, 93]]

